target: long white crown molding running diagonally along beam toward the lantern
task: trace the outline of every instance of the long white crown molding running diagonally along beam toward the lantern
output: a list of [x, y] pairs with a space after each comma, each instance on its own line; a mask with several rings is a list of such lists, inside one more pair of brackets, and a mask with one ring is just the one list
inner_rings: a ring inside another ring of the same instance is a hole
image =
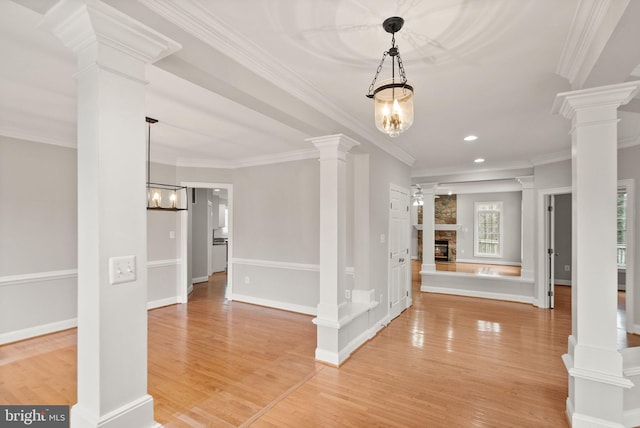
[[359, 123], [351, 114], [329, 100], [311, 82], [302, 78], [286, 64], [277, 61], [258, 45], [239, 34], [231, 26], [213, 16], [199, 0], [140, 0], [153, 12], [182, 30], [219, 50], [242, 66], [288, 92], [297, 99], [323, 113], [337, 123], [365, 137], [372, 144], [411, 166], [415, 162], [410, 154], [385, 140], [369, 127]]

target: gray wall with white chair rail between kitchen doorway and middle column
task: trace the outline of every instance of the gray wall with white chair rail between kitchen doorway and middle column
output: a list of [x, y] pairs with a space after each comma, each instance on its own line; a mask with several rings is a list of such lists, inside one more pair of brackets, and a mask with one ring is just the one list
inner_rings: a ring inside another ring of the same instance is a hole
[[320, 263], [319, 175], [317, 159], [234, 171], [236, 299], [307, 313], [315, 310], [319, 292], [314, 267]]

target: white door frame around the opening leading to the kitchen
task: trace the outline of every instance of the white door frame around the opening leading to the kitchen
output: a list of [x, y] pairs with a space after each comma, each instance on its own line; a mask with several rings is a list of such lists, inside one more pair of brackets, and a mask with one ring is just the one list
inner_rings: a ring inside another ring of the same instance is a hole
[[[201, 181], [182, 181], [181, 186], [191, 187], [196, 189], [226, 189], [227, 190], [227, 210], [229, 213], [228, 227], [228, 260], [233, 257], [233, 184], [231, 183], [208, 183]], [[187, 303], [189, 298], [189, 260], [188, 254], [188, 234], [189, 234], [189, 211], [180, 211], [180, 217], [178, 221], [178, 230], [180, 230], [180, 242], [177, 243], [178, 259], [180, 260], [180, 266], [178, 269], [178, 281], [177, 281], [177, 294], [178, 303]], [[228, 263], [227, 267], [227, 290], [225, 298], [231, 300], [233, 296], [233, 264]]]

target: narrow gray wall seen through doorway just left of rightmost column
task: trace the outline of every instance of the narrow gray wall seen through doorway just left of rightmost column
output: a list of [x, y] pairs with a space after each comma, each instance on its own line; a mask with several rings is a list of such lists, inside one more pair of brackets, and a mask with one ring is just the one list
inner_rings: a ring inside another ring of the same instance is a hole
[[[554, 205], [555, 279], [556, 284], [569, 285], [571, 283], [571, 193], [556, 195]], [[565, 266], [569, 266], [568, 271], [564, 270]]]

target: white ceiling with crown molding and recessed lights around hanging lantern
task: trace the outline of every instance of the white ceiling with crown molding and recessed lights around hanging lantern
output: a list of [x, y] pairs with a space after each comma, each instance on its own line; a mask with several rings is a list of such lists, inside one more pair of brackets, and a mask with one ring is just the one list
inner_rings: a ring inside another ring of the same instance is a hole
[[[106, 3], [182, 45], [148, 67], [146, 112], [159, 120], [152, 159], [180, 166], [311, 158], [306, 139], [344, 133], [411, 165], [414, 178], [527, 168], [570, 155], [570, 123], [551, 113], [557, 93], [640, 77], [639, 2]], [[74, 56], [38, 28], [52, 4], [0, 2], [0, 133], [73, 147]], [[389, 138], [365, 94], [391, 46], [381, 23], [396, 15], [416, 113]], [[640, 143], [638, 104], [620, 112], [622, 146]], [[479, 138], [463, 141], [469, 134]]]

